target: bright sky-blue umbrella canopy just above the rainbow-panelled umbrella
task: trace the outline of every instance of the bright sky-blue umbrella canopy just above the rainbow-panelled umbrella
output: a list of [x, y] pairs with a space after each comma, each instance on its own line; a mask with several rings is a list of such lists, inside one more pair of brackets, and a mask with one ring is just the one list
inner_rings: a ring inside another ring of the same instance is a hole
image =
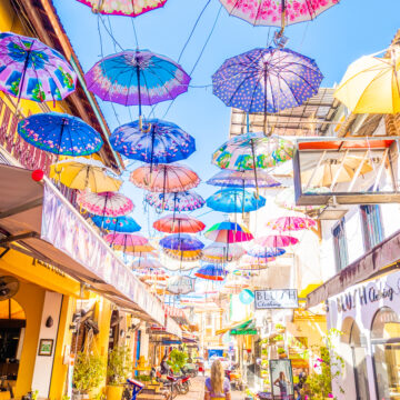
[[266, 206], [266, 199], [254, 197], [242, 189], [229, 188], [217, 191], [207, 199], [207, 206], [221, 212], [251, 212]]

